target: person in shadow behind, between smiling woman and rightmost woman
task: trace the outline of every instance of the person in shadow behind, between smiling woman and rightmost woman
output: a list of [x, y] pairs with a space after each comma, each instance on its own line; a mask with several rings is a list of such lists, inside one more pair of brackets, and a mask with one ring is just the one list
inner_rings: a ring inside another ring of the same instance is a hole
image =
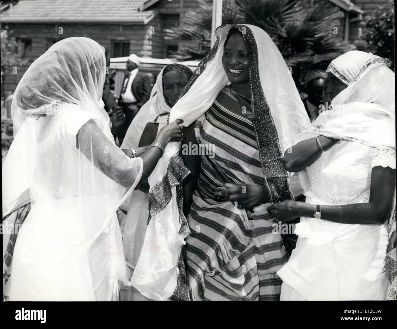
[[310, 122], [316, 120], [319, 106], [323, 104], [322, 91], [326, 77], [327, 73], [322, 70], [312, 70], [304, 76], [304, 85], [308, 97], [303, 101], [303, 104]]

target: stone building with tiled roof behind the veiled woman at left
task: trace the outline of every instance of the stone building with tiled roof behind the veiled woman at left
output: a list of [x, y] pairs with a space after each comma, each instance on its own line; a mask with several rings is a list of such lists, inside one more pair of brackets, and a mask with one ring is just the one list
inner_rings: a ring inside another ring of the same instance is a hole
[[94, 39], [111, 57], [135, 53], [166, 58], [178, 49], [178, 40], [164, 40], [163, 29], [178, 27], [194, 0], [13, 1], [0, 14], [12, 36], [23, 46], [19, 54], [28, 64], [16, 74], [6, 70], [2, 94], [15, 90], [27, 67], [57, 41], [69, 37]]

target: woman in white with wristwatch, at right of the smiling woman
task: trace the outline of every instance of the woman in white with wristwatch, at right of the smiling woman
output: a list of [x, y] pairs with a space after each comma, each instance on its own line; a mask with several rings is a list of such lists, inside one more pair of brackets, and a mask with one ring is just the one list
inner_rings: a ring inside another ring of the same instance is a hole
[[[383, 300], [387, 219], [395, 193], [395, 89], [390, 61], [350, 51], [333, 60], [323, 99], [329, 110], [285, 153], [306, 203], [268, 208], [296, 216], [299, 238], [278, 271], [282, 300]], [[340, 141], [340, 143], [339, 143]]]

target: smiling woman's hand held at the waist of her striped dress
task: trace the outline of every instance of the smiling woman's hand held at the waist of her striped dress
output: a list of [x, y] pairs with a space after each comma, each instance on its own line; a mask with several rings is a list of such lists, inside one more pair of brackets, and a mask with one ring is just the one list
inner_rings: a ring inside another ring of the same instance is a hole
[[266, 186], [251, 184], [225, 184], [229, 201], [237, 202], [240, 208], [252, 209], [268, 201]]

